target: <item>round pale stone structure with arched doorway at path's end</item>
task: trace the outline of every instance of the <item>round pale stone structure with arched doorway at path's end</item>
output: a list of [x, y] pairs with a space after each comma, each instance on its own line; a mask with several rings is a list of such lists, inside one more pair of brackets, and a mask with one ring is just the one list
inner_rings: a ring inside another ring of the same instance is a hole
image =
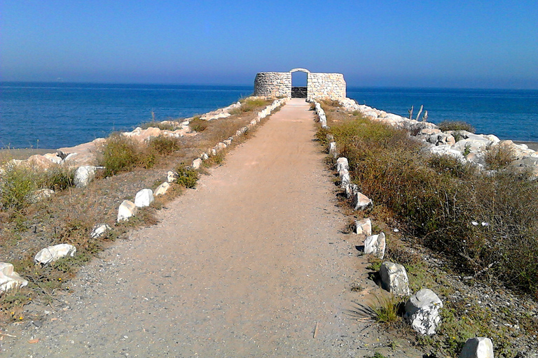
[[254, 96], [291, 97], [299, 94], [303, 87], [291, 87], [291, 73], [306, 73], [306, 99], [345, 99], [346, 87], [342, 73], [313, 73], [307, 69], [292, 69], [289, 72], [260, 72], [254, 80]]

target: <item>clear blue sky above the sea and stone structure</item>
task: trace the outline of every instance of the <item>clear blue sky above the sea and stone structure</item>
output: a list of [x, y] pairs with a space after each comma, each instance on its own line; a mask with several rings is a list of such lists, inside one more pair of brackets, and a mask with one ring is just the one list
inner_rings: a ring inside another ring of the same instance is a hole
[[0, 80], [538, 89], [538, 2], [0, 0]]

